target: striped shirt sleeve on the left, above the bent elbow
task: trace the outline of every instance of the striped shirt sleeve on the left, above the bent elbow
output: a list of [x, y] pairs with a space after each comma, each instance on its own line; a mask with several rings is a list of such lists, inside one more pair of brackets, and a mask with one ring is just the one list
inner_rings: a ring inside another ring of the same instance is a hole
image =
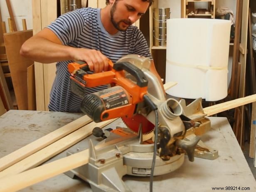
[[66, 45], [73, 42], [84, 27], [84, 17], [77, 10], [59, 16], [54, 22], [47, 26]]

